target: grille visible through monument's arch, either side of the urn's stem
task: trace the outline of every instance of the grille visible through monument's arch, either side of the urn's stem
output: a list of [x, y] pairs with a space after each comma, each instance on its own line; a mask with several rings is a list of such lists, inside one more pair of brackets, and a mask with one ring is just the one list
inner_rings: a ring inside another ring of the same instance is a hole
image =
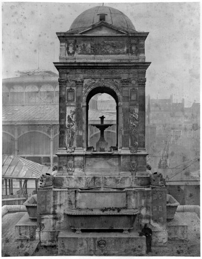
[[[105, 140], [108, 142], [109, 146], [116, 146], [117, 134], [116, 131], [105, 130], [104, 132]], [[96, 143], [99, 140], [100, 132], [93, 134], [89, 140], [89, 146], [93, 146], [96, 149]]]

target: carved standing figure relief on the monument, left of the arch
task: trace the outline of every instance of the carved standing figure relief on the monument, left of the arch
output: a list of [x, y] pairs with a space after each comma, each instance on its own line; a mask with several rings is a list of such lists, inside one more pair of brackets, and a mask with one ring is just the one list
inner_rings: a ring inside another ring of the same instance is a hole
[[75, 110], [71, 110], [66, 123], [66, 147], [76, 147]]

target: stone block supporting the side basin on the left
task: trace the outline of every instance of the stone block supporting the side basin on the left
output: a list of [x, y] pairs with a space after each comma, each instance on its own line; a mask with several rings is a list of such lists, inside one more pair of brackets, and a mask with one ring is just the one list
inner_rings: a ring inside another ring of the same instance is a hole
[[35, 240], [36, 239], [36, 221], [29, 219], [26, 213], [20, 221], [15, 225], [15, 236], [17, 240]]

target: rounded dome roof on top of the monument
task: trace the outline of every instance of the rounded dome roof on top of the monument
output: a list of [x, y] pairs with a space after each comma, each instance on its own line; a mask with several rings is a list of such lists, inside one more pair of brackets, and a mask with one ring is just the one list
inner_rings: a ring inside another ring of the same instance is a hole
[[72, 23], [70, 30], [78, 31], [100, 21], [100, 14], [105, 14], [105, 22], [126, 31], [135, 31], [130, 19], [117, 9], [107, 6], [96, 6], [81, 13]]

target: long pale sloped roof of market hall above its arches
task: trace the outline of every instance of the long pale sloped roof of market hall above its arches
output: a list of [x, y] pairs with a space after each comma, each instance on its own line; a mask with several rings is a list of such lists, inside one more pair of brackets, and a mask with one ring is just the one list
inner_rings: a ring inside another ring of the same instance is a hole
[[4, 122], [53, 121], [59, 122], [59, 105], [3, 106]]

